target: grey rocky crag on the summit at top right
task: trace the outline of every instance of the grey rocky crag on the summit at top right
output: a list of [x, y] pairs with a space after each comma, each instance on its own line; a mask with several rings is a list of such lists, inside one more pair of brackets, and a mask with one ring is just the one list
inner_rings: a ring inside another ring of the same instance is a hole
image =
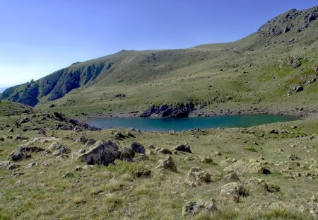
[[317, 18], [318, 6], [303, 11], [292, 9], [262, 25], [257, 33], [266, 37], [278, 36], [291, 30], [297, 33], [308, 28]]

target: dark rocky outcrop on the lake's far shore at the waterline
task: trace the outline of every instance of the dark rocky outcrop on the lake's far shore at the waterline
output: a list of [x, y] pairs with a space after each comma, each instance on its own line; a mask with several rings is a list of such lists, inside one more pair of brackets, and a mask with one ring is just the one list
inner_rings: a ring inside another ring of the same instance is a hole
[[190, 112], [194, 111], [194, 104], [187, 103], [178, 106], [172, 105], [152, 105], [148, 110], [143, 112], [140, 117], [188, 117]]

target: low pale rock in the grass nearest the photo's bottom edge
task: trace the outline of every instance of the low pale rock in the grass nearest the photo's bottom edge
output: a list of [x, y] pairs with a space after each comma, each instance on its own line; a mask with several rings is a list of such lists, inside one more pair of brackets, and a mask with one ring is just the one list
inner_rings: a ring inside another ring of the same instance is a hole
[[215, 203], [211, 202], [202, 202], [201, 200], [199, 201], [192, 201], [192, 202], [187, 202], [184, 204], [182, 207], [182, 216], [193, 216], [196, 214], [199, 214], [200, 212], [217, 212], [218, 207], [216, 206]]

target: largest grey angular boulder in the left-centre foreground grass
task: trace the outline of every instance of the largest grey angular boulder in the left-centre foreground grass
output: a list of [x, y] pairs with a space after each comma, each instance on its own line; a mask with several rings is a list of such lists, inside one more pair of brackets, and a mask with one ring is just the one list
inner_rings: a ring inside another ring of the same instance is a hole
[[78, 160], [84, 161], [90, 165], [104, 164], [114, 162], [118, 156], [118, 146], [112, 141], [100, 140], [86, 151], [86, 153], [78, 156]]

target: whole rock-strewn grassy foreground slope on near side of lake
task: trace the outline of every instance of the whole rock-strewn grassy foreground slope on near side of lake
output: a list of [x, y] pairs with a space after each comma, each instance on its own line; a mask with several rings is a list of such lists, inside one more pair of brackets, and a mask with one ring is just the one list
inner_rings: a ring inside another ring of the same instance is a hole
[[[317, 119], [184, 132], [78, 123], [0, 102], [0, 219], [317, 219]], [[81, 159], [103, 144], [106, 155]]]

